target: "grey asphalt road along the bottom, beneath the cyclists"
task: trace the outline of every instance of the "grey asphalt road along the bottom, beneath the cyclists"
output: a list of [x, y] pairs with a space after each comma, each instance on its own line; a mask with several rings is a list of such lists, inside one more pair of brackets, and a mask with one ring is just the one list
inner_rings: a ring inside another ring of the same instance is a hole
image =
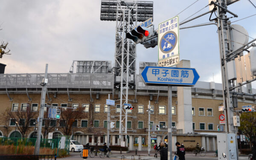
[[[58, 158], [60, 160], [82, 160], [83, 158], [80, 157], [80, 153], [76, 152], [76, 153], [70, 153], [70, 157], [65, 157], [65, 158]], [[105, 158], [108, 160], [120, 160], [121, 156], [124, 155], [125, 156], [125, 160], [131, 160], [131, 155], [132, 153], [128, 153], [128, 154], [112, 154], [111, 158]], [[207, 153], [205, 157], [201, 157], [201, 156], [192, 156], [191, 153], [186, 153], [185, 155], [186, 160], [225, 160], [223, 157], [214, 157], [214, 153]], [[138, 155], [134, 155], [134, 159], [138, 160]], [[173, 158], [172, 158], [173, 159]], [[88, 157], [87, 160], [102, 160], [102, 158], [98, 156], [95, 156], [94, 158], [90, 158]], [[141, 154], [141, 160], [160, 160], [160, 157], [155, 158], [154, 154], [152, 153], [150, 155], [150, 157], [147, 156], [147, 154], [143, 153]], [[243, 155], [243, 156], [239, 156], [239, 160], [248, 160], [248, 157]]]

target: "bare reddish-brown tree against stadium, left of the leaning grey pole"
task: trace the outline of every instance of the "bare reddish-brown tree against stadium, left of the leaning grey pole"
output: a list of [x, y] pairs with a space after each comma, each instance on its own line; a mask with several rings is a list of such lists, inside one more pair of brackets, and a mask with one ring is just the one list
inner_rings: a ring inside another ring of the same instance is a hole
[[21, 111], [12, 112], [10, 108], [7, 108], [5, 119], [8, 122], [10, 119], [15, 119], [18, 122], [17, 129], [20, 131], [22, 137], [25, 137], [26, 131], [30, 126], [30, 120], [35, 119], [36, 113], [31, 111], [30, 104], [27, 104], [26, 109], [22, 109]]

